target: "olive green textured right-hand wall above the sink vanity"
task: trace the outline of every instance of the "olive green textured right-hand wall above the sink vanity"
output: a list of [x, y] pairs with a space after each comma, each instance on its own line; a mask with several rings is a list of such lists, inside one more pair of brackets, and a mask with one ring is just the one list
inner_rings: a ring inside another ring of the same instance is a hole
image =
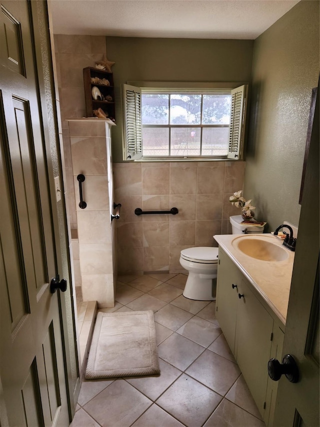
[[[254, 41], [244, 197], [268, 230], [298, 225], [311, 90], [319, 77], [319, 2], [302, 1]], [[318, 219], [318, 212], [314, 212]]]

